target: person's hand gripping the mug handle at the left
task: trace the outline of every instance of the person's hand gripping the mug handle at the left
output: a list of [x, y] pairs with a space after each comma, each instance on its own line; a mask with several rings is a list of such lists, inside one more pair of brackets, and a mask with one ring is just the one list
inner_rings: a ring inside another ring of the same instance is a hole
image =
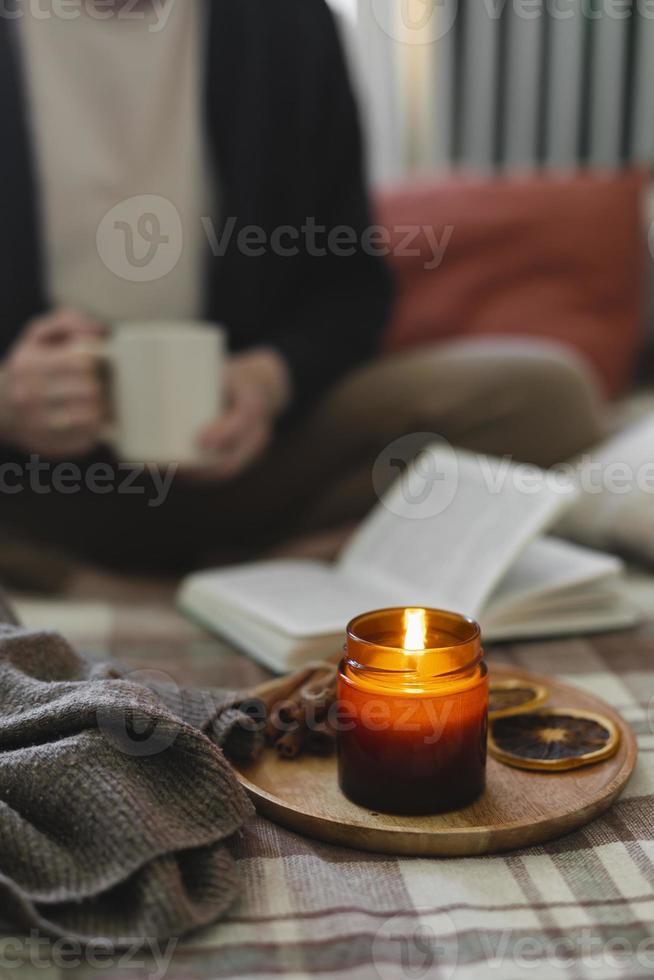
[[72, 310], [28, 324], [0, 365], [0, 441], [53, 459], [94, 448], [105, 396], [95, 358], [80, 347], [103, 336]]

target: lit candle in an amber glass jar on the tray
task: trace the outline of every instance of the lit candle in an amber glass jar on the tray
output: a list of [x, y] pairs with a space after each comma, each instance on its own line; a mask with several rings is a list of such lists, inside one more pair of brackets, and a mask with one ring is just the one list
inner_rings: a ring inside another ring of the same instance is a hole
[[472, 803], [485, 785], [487, 673], [479, 626], [455, 613], [354, 619], [338, 681], [343, 793], [385, 813]]

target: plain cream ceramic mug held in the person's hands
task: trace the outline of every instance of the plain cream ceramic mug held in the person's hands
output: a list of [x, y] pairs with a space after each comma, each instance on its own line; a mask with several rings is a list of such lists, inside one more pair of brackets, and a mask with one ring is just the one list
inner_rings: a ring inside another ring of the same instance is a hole
[[225, 332], [213, 324], [116, 324], [97, 353], [110, 367], [110, 439], [118, 456], [133, 463], [202, 463], [198, 437], [224, 404], [225, 352]]

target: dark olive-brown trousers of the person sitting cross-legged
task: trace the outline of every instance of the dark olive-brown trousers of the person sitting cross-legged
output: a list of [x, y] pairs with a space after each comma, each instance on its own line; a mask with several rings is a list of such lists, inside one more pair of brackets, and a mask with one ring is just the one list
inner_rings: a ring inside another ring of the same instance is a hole
[[547, 467], [598, 442], [603, 411], [588, 369], [555, 345], [497, 338], [411, 350], [351, 374], [229, 483], [177, 477], [158, 506], [147, 478], [108, 495], [0, 493], [0, 579], [53, 589], [75, 562], [179, 575], [359, 520], [380, 490], [375, 459], [415, 433]]

